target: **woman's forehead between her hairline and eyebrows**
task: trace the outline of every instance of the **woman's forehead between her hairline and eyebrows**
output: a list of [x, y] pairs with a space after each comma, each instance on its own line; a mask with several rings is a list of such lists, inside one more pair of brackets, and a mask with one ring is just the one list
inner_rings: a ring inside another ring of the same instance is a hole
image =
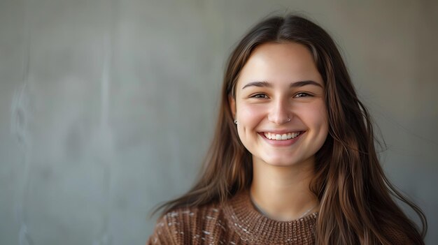
[[298, 43], [265, 43], [253, 50], [243, 66], [237, 86], [266, 81], [278, 85], [313, 80], [323, 85], [309, 49]]

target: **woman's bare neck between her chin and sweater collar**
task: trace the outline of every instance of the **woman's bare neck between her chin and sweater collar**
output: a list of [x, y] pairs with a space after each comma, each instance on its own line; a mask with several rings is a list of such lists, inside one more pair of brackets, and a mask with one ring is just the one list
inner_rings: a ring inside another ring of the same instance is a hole
[[309, 189], [313, 175], [313, 162], [283, 167], [253, 161], [251, 199], [277, 221], [302, 218], [318, 209], [318, 199]]

